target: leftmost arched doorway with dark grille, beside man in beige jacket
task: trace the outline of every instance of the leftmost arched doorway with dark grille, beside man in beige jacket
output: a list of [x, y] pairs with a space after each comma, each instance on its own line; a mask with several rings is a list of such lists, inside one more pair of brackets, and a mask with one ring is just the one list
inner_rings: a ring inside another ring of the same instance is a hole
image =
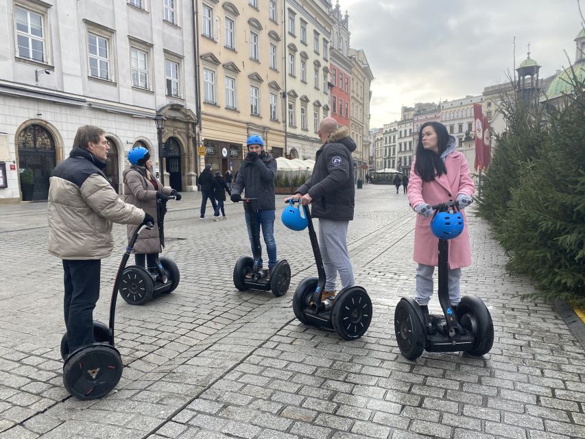
[[32, 124], [19, 134], [18, 147], [19, 170], [32, 171], [32, 187], [29, 187], [21, 176], [23, 201], [47, 200], [49, 178], [56, 163], [53, 136], [43, 126]]

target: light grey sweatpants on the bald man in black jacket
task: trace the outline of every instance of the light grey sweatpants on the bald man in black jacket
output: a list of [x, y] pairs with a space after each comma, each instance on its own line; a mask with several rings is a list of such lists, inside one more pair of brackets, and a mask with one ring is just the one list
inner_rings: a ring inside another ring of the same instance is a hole
[[347, 252], [347, 227], [349, 221], [333, 221], [319, 218], [319, 249], [325, 268], [325, 289], [335, 291], [337, 272], [342, 287], [354, 284], [353, 267]]

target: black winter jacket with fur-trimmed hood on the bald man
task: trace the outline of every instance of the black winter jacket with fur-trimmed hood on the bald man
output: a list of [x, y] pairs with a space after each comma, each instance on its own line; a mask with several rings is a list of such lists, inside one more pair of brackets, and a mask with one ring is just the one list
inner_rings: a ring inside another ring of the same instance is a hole
[[313, 217], [334, 221], [353, 219], [355, 188], [351, 153], [355, 148], [349, 129], [342, 127], [318, 150], [313, 175], [297, 189], [298, 193], [309, 193], [313, 198]]

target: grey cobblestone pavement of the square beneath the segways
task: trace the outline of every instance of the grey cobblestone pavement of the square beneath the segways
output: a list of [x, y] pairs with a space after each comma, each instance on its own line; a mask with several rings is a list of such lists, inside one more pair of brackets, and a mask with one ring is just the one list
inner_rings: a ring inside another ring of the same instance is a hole
[[[167, 216], [178, 289], [141, 307], [118, 301], [126, 368], [117, 392], [86, 402], [62, 386], [62, 266], [47, 254], [46, 204], [0, 206], [0, 438], [585, 438], [584, 351], [551, 306], [515, 297], [533, 287], [505, 274], [483, 220], [470, 217], [474, 265], [462, 289], [488, 303], [492, 351], [408, 361], [392, 322], [398, 298], [414, 291], [405, 195], [357, 191], [350, 257], [374, 318], [352, 342], [294, 318], [294, 288], [316, 273], [306, 232], [276, 221], [293, 273], [285, 296], [237, 292], [233, 265], [250, 252], [242, 206], [228, 203], [226, 221], [199, 221], [199, 200], [187, 194]], [[103, 322], [123, 226], [115, 237], [95, 311]]]

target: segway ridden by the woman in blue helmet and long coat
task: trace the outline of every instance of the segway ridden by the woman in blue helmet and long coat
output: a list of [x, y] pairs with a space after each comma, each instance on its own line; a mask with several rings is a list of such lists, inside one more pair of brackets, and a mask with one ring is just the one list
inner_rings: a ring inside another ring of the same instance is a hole
[[[174, 199], [174, 195], [171, 195]], [[165, 241], [164, 220], [167, 213], [167, 200], [156, 200], [158, 236]], [[120, 296], [130, 305], [143, 305], [154, 296], [173, 292], [179, 285], [180, 272], [172, 259], [155, 258], [156, 268], [146, 270], [139, 265], [130, 265], [124, 270], [120, 283]]]

